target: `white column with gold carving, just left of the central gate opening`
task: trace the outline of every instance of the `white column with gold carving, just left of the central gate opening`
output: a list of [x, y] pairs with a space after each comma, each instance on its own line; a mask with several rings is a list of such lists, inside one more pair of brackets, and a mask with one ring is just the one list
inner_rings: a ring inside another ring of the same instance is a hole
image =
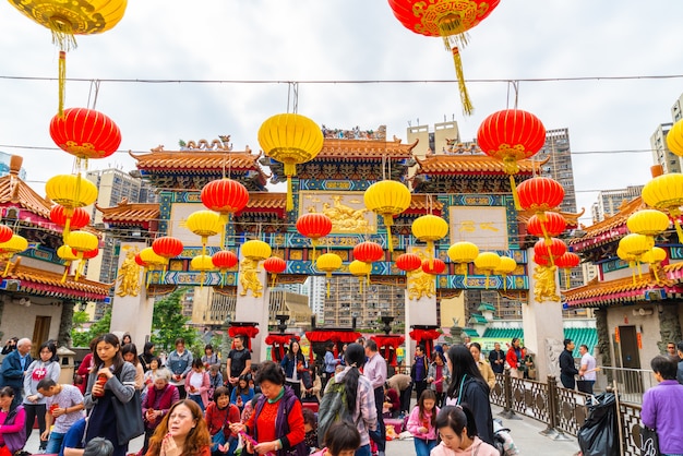
[[259, 334], [251, 340], [251, 357], [252, 362], [261, 362], [266, 359], [264, 340], [268, 335], [271, 290], [266, 271], [262, 266], [253, 268], [253, 262], [240, 256], [235, 323], [257, 323]]

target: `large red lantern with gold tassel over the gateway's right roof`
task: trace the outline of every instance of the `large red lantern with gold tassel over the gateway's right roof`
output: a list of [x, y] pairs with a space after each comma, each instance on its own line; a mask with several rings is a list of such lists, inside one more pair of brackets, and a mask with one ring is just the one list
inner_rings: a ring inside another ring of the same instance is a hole
[[519, 172], [517, 161], [536, 155], [546, 144], [546, 128], [540, 119], [522, 109], [505, 109], [487, 117], [479, 131], [477, 143], [490, 157], [503, 161], [510, 175], [510, 188], [519, 209], [515, 175]]

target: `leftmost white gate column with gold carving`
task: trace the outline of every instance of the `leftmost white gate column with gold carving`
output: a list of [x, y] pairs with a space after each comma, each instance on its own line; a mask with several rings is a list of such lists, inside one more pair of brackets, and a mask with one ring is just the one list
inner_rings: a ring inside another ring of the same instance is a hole
[[[130, 333], [139, 352], [142, 352], [145, 341], [149, 340], [152, 336], [152, 315], [154, 313], [154, 298], [147, 297], [144, 268], [134, 262], [135, 253], [146, 247], [147, 244], [144, 242], [121, 242], [117, 285], [111, 305], [110, 331], [119, 336], [123, 333]], [[131, 259], [133, 259], [132, 263]], [[134, 286], [128, 287], [125, 290], [122, 287], [120, 277], [127, 274], [130, 280], [128, 284], [133, 284], [136, 277], [136, 292]], [[128, 292], [124, 293], [124, 291]]]

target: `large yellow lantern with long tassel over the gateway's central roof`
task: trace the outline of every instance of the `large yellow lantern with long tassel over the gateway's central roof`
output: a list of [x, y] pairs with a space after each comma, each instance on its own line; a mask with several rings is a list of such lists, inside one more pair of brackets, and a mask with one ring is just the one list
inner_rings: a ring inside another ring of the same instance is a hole
[[280, 113], [259, 129], [259, 144], [268, 157], [281, 161], [287, 176], [287, 211], [293, 209], [291, 177], [297, 165], [312, 160], [323, 148], [323, 132], [311, 119], [298, 113]]

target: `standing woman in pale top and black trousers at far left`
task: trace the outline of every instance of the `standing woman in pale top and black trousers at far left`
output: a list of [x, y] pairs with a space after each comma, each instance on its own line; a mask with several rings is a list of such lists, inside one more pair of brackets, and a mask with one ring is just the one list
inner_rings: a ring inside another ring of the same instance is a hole
[[[33, 431], [33, 424], [38, 419], [38, 435], [43, 435], [45, 432], [45, 412], [46, 412], [46, 398], [38, 391], [38, 383], [44, 379], [50, 379], [55, 382], [59, 381], [59, 374], [61, 368], [59, 362], [53, 361], [55, 355], [57, 355], [57, 347], [52, 344], [45, 343], [40, 346], [38, 351], [38, 359], [34, 360], [26, 373], [24, 374], [24, 410], [26, 412], [26, 440], [31, 437]], [[81, 400], [83, 401], [83, 400]], [[47, 441], [40, 441], [38, 451], [45, 452]]]

